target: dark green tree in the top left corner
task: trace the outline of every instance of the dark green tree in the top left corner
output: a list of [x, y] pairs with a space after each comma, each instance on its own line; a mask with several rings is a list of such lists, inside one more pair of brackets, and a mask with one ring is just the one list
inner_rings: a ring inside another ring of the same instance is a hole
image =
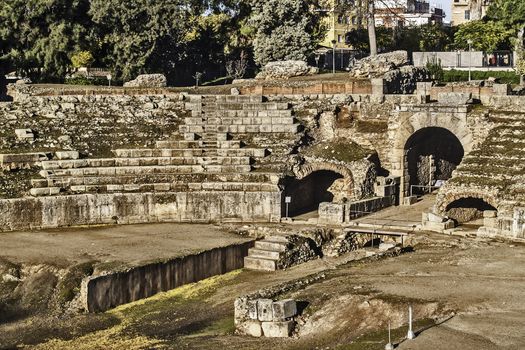
[[2, 0], [0, 61], [33, 81], [61, 80], [73, 52], [85, 49], [89, 0]]

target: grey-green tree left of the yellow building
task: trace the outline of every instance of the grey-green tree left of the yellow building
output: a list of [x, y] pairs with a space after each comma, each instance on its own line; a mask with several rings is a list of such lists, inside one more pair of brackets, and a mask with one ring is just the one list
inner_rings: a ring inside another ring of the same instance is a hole
[[307, 60], [324, 35], [315, 0], [251, 0], [255, 62]]

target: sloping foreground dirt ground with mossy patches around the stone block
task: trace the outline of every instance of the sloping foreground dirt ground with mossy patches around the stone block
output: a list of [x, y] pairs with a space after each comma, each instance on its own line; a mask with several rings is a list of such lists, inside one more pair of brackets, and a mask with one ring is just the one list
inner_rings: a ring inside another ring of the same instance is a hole
[[[235, 271], [103, 314], [11, 320], [0, 323], [0, 348], [379, 350], [388, 322], [398, 349], [525, 348], [524, 245], [418, 233], [412, 248], [377, 261], [353, 261], [363, 257], [354, 252], [275, 273]], [[306, 306], [296, 337], [234, 335], [237, 296], [318, 272], [325, 278], [282, 296]]]

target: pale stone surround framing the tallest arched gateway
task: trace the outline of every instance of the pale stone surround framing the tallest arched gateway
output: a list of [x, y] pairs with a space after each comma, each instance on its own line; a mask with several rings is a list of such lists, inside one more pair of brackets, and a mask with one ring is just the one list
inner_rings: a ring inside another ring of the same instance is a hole
[[[431, 112], [430, 108], [417, 113], [410, 114], [404, 119], [394, 132], [393, 150], [390, 155], [391, 173], [401, 177], [400, 192], [403, 196], [409, 195], [407, 150], [405, 148], [409, 139], [416, 132], [425, 128], [442, 128], [460, 141], [464, 154], [468, 154], [473, 146], [473, 135], [467, 125], [466, 113], [454, 113], [453, 111]], [[454, 107], [447, 107], [454, 108]], [[407, 113], [407, 112], [403, 112]], [[401, 114], [403, 117], [403, 114]]]

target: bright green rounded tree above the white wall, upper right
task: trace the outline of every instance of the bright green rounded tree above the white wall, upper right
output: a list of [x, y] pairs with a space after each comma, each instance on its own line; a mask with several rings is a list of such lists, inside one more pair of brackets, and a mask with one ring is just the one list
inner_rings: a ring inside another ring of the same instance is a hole
[[509, 48], [513, 35], [513, 30], [505, 27], [502, 22], [470, 21], [459, 26], [454, 35], [454, 45], [458, 49], [466, 49], [471, 40], [475, 50], [492, 52]]

